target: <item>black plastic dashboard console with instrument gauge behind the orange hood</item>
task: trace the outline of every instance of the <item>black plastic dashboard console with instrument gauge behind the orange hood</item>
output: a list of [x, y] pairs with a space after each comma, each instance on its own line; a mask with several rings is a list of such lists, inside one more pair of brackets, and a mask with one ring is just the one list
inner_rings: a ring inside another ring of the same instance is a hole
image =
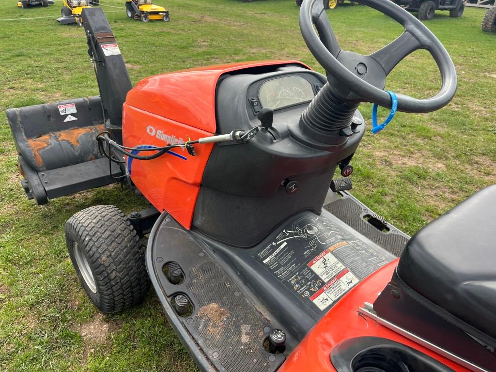
[[[309, 145], [300, 118], [327, 80], [295, 63], [270, 67], [221, 76], [215, 96], [217, 134], [260, 125], [256, 117], [262, 108], [259, 92], [264, 105], [268, 104], [263, 100], [267, 81], [268, 95], [279, 96], [281, 91], [281, 96], [288, 95], [284, 89], [291, 93], [296, 87], [303, 91], [303, 99], [296, 89], [292, 93], [296, 99], [275, 110], [272, 125], [260, 129], [248, 142], [215, 144], [193, 215], [194, 229], [239, 247], [253, 246], [288, 216], [307, 210], [319, 214], [337, 164], [355, 152], [364, 134], [365, 125], [361, 125], [339, 145]], [[272, 86], [271, 81], [275, 81]], [[356, 116], [363, 122], [358, 111]]]

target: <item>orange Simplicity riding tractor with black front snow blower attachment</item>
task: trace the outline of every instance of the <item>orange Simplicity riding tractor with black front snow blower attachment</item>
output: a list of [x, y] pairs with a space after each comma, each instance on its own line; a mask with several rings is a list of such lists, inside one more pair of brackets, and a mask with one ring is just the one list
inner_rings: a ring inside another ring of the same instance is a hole
[[[413, 238], [348, 192], [361, 102], [391, 117], [432, 112], [457, 86], [422, 22], [391, 1], [360, 2], [405, 31], [369, 56], [344, 51], [322, 1], [305, 0], [300, 28], [326, 76], [298, 61], [246, 62], [134, 87], [103, 11], [83, 9], [100, 96], [7, 118], [38, 204], [114, 182], [151, 204], [128, 216], [92, 206], [66, 222], [99, 310], [138, 304], [151, 283], [202, 371], [495, 371], [496, 186]], [[439, 67], [440, 91], [384, 91], [419, 49]]]

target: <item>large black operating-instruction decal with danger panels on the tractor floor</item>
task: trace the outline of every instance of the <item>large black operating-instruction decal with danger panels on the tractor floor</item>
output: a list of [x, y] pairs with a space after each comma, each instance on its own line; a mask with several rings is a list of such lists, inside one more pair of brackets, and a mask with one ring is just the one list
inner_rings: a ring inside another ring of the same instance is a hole
[[310, 212], [276, 232], [253, 257], [318, 311], [396, 257], [371, 247], [324, 216]]

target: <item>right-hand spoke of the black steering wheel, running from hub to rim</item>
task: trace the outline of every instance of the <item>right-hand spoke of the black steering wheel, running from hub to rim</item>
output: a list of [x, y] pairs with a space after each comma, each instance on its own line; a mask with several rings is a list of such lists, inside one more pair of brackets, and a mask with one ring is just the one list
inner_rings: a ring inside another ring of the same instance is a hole
[[377, 61], [388, 75], [405, 57], [423, 48], [424, 45], [406, 30], [396, 40], [372, 53], [370, 57]]

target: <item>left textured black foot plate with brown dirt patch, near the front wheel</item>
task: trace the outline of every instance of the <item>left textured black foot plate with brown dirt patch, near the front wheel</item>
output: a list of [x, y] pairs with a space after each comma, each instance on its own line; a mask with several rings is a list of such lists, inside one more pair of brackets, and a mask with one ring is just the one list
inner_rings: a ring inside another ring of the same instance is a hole
[[[205, 371], [212, 367], [218, 371], [277, 370], [284, 355], [270, 354], [264, 348], [271, 324], [176, 221], [164, 214], [155, 226], [148, 244], [148, 271], [171, 324], [197, 365]], [[179, 284], [172, 284], [164, 273], [164, 266], [171, 262], [172, 267], [177, 263], [181, 268]], [[183, 316], [171, 305], [180, 294], [192, 305]]]

